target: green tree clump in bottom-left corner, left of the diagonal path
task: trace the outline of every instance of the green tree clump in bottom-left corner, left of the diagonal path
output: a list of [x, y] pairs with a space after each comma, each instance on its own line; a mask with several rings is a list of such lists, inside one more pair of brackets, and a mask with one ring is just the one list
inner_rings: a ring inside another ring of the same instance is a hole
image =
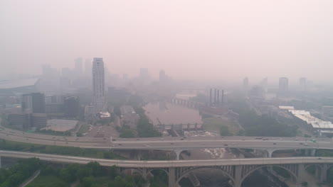
[[0, 187], [16, 187], [26, 181], [41, 166], [39, 159], [24, 159], [9, 169], [0, 169]]

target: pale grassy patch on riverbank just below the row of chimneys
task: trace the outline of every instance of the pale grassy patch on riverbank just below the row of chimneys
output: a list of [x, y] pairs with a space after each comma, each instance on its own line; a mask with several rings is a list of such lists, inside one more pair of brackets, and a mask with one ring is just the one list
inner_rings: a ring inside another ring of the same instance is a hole
[[229, 131], [233, 135], [237, 135], [239, 128], [236, 123], [233, 123], [228, 120], [224, 120], [221, 118], [206, 118], [203, 119], [203, 129], [209, 132], [220, 133], [221, 126], [228, 127]]

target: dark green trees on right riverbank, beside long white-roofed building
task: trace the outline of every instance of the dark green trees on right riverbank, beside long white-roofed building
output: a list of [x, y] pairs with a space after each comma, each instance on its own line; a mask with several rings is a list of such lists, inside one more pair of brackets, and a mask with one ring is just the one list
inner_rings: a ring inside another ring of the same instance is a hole
[[294, 137], [297, 126], [279, 123], [268, 115], [257, 115], [254, 111], [239, 113], [239, 122], [247, 136]]

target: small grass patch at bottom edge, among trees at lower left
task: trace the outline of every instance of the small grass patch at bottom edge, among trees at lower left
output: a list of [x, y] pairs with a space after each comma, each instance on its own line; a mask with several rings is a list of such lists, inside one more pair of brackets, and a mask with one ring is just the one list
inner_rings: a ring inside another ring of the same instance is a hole
[[41, 176], [29, 183], [26, 187], [70, 187], [70, 184], [57, 176]]

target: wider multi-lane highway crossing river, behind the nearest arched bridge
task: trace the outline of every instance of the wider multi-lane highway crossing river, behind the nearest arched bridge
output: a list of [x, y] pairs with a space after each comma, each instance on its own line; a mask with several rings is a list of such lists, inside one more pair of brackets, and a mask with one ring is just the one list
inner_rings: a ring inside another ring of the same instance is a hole
[[251, 149], [333, 149], [331, 139], [311, 142], [305, 137], [153, 137], [129, 138], [110, 141], [110, 138], [57, 137], [21, 132], [2, 128], [0, 138], [38, 145], [58, 145], [94, 149], [206, 149], [206, 148], [251, 148]]

